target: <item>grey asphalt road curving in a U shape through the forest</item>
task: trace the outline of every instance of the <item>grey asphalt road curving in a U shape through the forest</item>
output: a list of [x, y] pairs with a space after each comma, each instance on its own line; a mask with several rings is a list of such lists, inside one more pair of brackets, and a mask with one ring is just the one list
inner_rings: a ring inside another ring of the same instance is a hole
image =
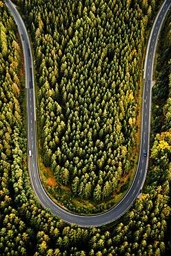
[[[143, 89], [143, 109], [142, 109], [142, 121], [141, 121], [141, 147], [139, 154], [139, 163], [137, 165], [137, 172], [134, 176], [134, 181], [127, 194], [123, 199], [114, 206], [108, 212], [93, 216], [81, 216], [67, 212], [55, 204], [52, 199], [46, 194], [46, 191], [41, 184], [39, 176], [38, 164], [37, 164], [37, 138], [36, 138], [36, 111], [35, 111], [35, 96], [34, 96], [34, 74], [33, 74], [33, 62], [32, 51], [30, 47], [30, 39], [26, 31], [26, 27], [19, 15], [19, 12], [15, 8], [14, 4], [10, 1], [6, 1], [6, 6], [9, 8], [14, 20], [17, 23], [19, 34], [21, 37], [21, 43], [23, 47], [24, 64], [26, 71], [26, 92], [27, 92], [27, 111], [28, 111], [28, 152], [32, 151], [32, 156], [29, 157], [29, 173], [32, 188], [37, 195], [41, 205], [44, 208], [49, 208], [52, 214], [57, 215], [68, 223], [76, 223], [81, 226], [102, 226], [110, 223], [116, 219], [119, 219], [131, 206], [132, 203], [141, 194], [143, 183], [148, 167], [148, 155], [149, 155], [149, 140], [150, 140], [150, 109], [151, 109], [151, 90], [152, 90], [152, 73], [154, 65], [154, 55], [157, 45], [157, 39], [161, 30], [161, 24], [167, 14], [171, 0], [165, 0], [161, 10], [159, 11], [157, 18], [154, 21], [152, 32], [148, 42], [147, 53], [145, 57], [144, 66], [144, 89]], [[147, 152], [147, 156], [144, 156], [144, 152]]]

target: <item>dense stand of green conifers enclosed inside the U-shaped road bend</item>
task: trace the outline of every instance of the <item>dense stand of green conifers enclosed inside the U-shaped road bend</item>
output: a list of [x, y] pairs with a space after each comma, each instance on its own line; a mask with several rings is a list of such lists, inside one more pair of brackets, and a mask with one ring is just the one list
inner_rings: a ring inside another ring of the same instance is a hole
[[17, 1], [37, 58], [43, 162], [85, 199], [132, 169], [139, 66], [155, 1]]

